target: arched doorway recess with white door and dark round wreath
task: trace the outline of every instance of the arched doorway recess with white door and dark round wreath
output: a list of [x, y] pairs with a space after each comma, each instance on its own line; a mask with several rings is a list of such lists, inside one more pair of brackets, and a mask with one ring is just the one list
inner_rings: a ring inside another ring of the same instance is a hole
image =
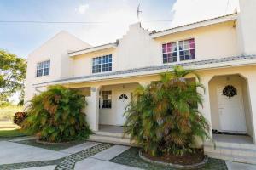
[[212, 132], [253, 137], [246, 79], [238, 74], [212, 77], [209, 93]]

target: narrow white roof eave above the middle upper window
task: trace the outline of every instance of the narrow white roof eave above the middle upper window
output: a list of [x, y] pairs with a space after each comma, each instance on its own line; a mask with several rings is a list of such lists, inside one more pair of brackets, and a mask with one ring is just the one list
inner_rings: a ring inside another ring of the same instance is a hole
[[103, 45], [96, 46], [96, 47], [85, 48], [85, 49], [81, 49], [78, 51], [73, 51], [73, 52], [68, 53], [68, 55], [70, 57], [73, 57], [73, 56], [77, 56], [79, 54], [88, 54], [88, 53], [92, 53], [95, 51], [100, 51], [100, 50], [108, 49], [108, 48], [116, 48], [116, 47], [117, 47], [117, 43], [108, 43], [108, 44], [103, 44]]

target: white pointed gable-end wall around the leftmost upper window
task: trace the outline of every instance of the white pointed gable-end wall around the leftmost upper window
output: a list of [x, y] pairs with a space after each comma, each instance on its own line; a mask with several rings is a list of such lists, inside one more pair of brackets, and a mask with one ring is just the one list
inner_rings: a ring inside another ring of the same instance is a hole
[[[89, 44], [82, 42], [77, 37], [73, 37], [66, 31], [61, 31], [29, 54], [27, 58], [25, 101], [31, 99], [33, 94], [36, 93], [32, 84], [48, 82], [61, 77], [70, 77], [73, 73], [73, 61], [68, 57], [67, 52], [89, 47]], [[50, 60], [49, 76], [36, 77], [37, 63], [48, 59]]]

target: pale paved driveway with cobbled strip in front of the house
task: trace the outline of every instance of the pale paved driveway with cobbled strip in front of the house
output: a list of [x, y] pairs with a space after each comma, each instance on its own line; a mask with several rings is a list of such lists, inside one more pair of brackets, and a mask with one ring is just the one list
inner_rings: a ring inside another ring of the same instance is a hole
[[[111, 162], [130, 147], [85, 142], [66, 150], [46, 150], [11, 141], [0, 141], [0, 169], [13, 170], [139, 170]], [[255, 165], [226, 161], [229, 170], [256, 170]]]

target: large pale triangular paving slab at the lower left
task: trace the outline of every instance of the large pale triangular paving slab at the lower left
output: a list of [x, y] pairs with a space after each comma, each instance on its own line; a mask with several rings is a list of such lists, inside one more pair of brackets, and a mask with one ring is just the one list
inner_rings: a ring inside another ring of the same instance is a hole
[[0, 165], [27, 161], [56, 160], [69, 155], [54, 150], [46, 150], [8, 141], [0, 141], [0, 150]]

